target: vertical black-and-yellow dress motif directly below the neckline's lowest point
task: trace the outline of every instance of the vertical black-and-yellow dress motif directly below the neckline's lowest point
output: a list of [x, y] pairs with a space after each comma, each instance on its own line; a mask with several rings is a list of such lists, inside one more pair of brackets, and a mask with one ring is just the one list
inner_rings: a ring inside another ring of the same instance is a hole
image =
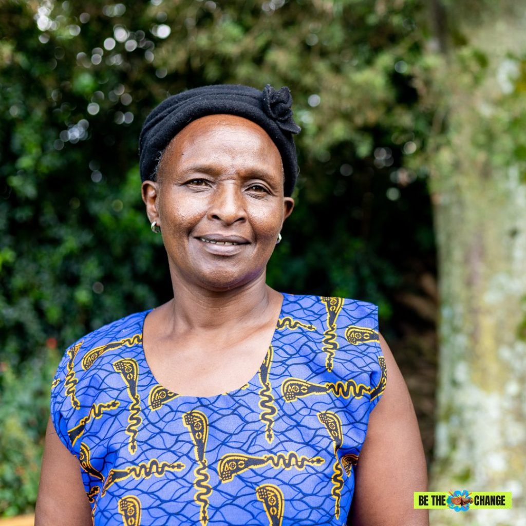
[[194, 500], [200, 505], [199, 521], [202, 526], [208, 523], [208, 497], [212, 492], [210, 484], [210, 475], [208, 474], [208, 461], [205, 457], [206, 442], [208, 440], [208, 419], [204, 413], [200, 411], [189, 411], [183, 415], [183, 424], [194, 442], [194, 453], [196, 460], [199, 463], [194, 470], [195, 480]]

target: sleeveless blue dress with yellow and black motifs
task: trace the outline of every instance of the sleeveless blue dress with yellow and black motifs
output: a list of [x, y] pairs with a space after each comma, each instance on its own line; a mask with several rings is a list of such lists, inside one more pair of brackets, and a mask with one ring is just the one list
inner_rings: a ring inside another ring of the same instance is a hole
[[213, 397], [159, 385], [142, 346], [148, 312], [74, 343], [52, 385], [95, 525], [345, 524], [386, 385], [378, 308], [284, 294], [259, 371]]

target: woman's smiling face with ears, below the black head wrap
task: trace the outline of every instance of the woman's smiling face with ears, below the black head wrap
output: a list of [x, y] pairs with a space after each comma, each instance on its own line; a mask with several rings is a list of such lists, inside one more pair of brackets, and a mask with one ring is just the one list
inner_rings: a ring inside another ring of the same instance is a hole
[[221, 291], [261, 276], [294, 207], [283, 184], [278, 148], [251, 120], [209, 115], [183, 128], [142, 189], [172, 277]]

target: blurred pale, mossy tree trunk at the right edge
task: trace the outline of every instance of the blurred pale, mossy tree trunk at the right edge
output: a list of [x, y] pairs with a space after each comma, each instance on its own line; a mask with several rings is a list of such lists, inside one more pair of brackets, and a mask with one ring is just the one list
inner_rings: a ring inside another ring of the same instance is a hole
[[[432, 16], [441, 12], [435, 4]], [[429, 148], [441, 310], [430, 485], [512, 491], [511, 510], [470, 510], [462, 524], [519, 525], [526, 524], [526, 17], [521, 2], [515, 11], [504, 2], [466, 4], [445, 4], [460, 22], [448, 28], [446, 46], [442, 19], [432, 46], [442, 53]], [[458, 517], [439, 510], [431, 523]]]

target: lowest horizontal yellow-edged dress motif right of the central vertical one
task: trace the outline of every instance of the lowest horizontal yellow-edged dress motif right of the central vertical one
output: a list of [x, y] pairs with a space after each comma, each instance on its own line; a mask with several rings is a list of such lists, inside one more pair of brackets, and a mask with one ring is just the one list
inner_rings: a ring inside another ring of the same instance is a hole
[[253, 457], [242, 453], [227, 453], [219, 459], [217, 472], [221, 482], [232, 480], [235, 475], [246, 471], [247, 469], [262, 468], [270, 464], [272, 468], [284, 468], [289, 470], [296, 468], [305, 469], [306, 466], [320, 466], [325, 460], [321, 457], [303, 457], [298, 456], [295, 451], [288, 453], [266, 454], [262, 457]]

